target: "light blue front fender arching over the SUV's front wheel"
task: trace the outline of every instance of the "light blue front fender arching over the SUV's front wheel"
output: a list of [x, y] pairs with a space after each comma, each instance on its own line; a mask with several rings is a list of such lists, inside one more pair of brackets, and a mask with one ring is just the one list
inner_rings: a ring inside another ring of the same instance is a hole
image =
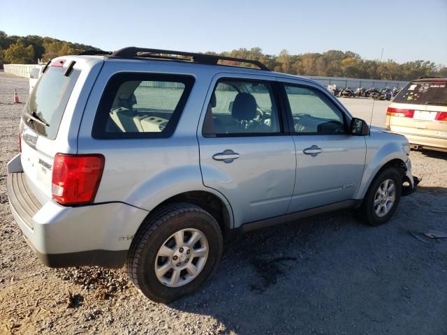
[[365, 163], [365, 170], [363, 172], [362, 181], [358, 188], [356, 199], [365, 198], [369, 185], [371, 185], [377, 172], [386, 163], [393, 161], [393, 159], [399, 159], [406, 164], [407, 168], [410, 166], [410, 170], [407, 171], [407, 175], [411, 175], [411, 165], [407, 163], [409, 161], [408, 156], [404, 152], [404, 148], [400, 142], [368, 142], [367, 141], [367, 159]]

